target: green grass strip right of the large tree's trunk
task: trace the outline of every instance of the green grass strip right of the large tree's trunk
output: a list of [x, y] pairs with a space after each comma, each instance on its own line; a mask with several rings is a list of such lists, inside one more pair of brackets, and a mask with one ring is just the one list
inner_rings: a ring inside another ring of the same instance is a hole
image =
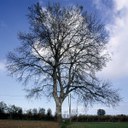
[[72, 123], [67, 128], [128, 128], [128, 122], [90, 122], [90, 123]]

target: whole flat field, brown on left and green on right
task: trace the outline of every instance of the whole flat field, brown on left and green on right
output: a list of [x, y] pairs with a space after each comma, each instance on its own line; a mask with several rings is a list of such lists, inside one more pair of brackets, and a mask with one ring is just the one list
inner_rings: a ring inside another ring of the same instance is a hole
[[[59, 126], [55, 122], [47, 121], [0, 120], [0, 128], [59, 128]], [[64, 128], [128, 128], [128, 122], [72, 123]]]

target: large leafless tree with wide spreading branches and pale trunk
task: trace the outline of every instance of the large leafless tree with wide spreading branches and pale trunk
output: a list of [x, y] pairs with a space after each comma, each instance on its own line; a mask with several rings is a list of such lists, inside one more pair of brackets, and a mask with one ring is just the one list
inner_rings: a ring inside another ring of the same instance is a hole
[[95, 16], [78, 6], [37, 3], [29, 8], [28, 19], [30, 31], [19, 33], [21, 46], [8, 54], [7, 69], [25, 84], [34, 81], [30, 97], [52, 96], [58, 121], [71, 92], [85, 104], [120, 101], [117, 91], [96, 76], [108, 61], [108, 33]]

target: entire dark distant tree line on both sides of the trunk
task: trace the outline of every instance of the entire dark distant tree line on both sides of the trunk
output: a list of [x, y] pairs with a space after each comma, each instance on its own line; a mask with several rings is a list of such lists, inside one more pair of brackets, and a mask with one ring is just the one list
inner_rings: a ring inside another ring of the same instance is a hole
[[[8, 106], [6, 103], [0, 102], [0, 119], [56, 121], [57, 117], [56, 114], [52, 114], [50, 108], [47, 111], [44, 108], [23, 111], [21, 107]], [[78, 113], [74, 113], [71, 120], [73, 122], [128, 122], [128, 115], [105, 115], [105, 110], [98, 109], [97, 115], [78, 115]]]

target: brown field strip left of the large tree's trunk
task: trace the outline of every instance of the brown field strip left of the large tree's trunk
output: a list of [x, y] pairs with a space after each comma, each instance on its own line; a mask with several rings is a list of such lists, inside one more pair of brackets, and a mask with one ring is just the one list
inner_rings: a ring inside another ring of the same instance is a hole
[[55, 122], [0, 120], [0, 128], [58, 128]]

